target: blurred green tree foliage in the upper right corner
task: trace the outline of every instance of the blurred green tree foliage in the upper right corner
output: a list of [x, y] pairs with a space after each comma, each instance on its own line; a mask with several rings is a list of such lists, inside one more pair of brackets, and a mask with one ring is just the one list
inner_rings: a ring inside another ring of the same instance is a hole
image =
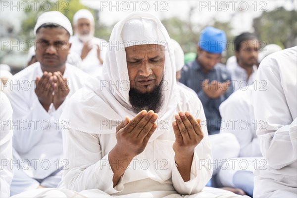
[[270, 12], [263, 12], [253, 19], [255, 34], [260, 41], [277, 44], [284, 48], [297, 45], [297, 11], [288, 11], [279, 7]]

